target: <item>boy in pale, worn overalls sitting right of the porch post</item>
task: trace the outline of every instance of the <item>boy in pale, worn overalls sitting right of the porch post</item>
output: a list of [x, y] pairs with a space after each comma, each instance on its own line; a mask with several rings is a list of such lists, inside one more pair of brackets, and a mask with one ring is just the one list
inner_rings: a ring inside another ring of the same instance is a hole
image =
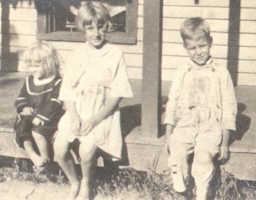
[[[202, 18], [185, 20], [180, 29], [191, 62], [177, 68], [166, 108], [166, 149], [170, 152], [174, 189], [188, 197], [190, 173], [196, 199], [207, 199], [214, 175], [214, 157], [229, 154], [230, 130], [235, 130], [237, 104], [229, 71], [210, 55], [213, 38]], [[192, 166], [189, 159], [194, 154]]]

